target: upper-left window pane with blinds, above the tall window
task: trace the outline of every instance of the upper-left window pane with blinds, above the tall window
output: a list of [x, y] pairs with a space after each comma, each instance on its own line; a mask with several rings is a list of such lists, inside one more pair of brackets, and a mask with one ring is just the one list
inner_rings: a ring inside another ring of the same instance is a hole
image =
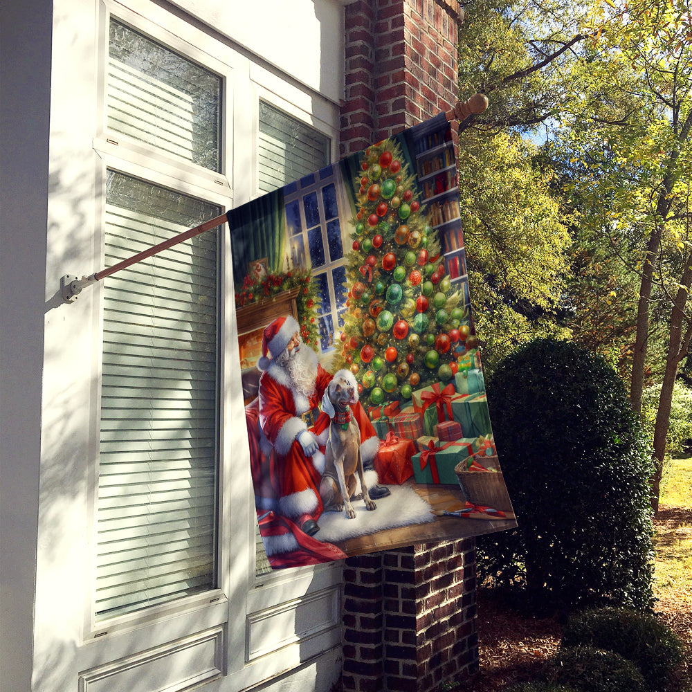
[[108, 127], [210, 170], [221, 165], [221, 78], [111, 19]]

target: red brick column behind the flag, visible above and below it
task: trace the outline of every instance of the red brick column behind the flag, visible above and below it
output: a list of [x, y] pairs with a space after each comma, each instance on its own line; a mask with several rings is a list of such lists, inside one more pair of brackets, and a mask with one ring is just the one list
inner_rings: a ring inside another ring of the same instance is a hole
[[[462, 17], [457, 0], [345, 6], [341, 156], [453, 106]], [[473, 538], [347, 559], [343, 689], [430, 692], [475, 673], [475, 607]]]

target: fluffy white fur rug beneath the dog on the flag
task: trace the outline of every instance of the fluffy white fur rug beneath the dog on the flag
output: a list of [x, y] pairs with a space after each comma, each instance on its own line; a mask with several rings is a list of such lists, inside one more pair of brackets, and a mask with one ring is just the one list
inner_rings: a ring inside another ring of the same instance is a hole
[[320, 530], [313, 536], [323, 543], [338, 543], [347, 538], [376, 534], [384, 529], [395, 529], [409, 524], [434, 521], [432, 507], [408, 486], [387, 486], [391, 495], [375, 500], [377, 509], [367, 511], [363, 500], [352, 502], [355, 519], [347, 519], [341, 512], [325, 512], [318, 519]]

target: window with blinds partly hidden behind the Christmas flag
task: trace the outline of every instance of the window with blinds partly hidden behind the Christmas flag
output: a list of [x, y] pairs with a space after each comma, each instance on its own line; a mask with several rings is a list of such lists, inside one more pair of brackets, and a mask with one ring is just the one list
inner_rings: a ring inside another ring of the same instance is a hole
[[[329, 149], [330, 140], [320, 131], [260, 100], [257, 160], [262, 194], [325, 167], [329, 163]], [[304, 255], [302, 260], [304, 264]], [[260, 576], [271, 572], [271, 566], [264, 552], [259, 527], [255, 540], [255, 570]]]

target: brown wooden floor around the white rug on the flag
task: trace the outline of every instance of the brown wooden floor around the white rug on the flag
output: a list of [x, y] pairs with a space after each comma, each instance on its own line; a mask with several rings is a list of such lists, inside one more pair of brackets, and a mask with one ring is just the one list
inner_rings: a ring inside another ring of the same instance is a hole
[[[449, 512], [464, 509], [466, 501], [461, 488], [451, 485], [420, 484], [407, 481], [432, 510]], [[435, 521], [426, 524], [415, 524], [400, 529], [387, 529], [371, 536], [358, 536], [335, 543], [349, 556], [372, 553], [383, 549], [400, 548], [412, 543], [437, 542], [446, 539], [459, 539], [468, 536], [480, 536], [494, 531], [516, 527], [516, 518], [512, 512], [505, 511], [506, 519], [464, 519], [459, 517], [436, 517]]]

